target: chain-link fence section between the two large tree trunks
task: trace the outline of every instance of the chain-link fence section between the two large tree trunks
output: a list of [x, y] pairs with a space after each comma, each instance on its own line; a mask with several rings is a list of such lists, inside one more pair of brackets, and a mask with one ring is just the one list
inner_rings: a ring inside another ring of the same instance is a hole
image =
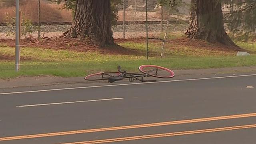
[[[115, 38], [136, 38], [146, 36], [146, 1], [129, 0], [124, 1], [124, 11], [118, 13], [119, 24], [124, 26], [114, 26], [113, 32]], [[189, 1], [188, 1], [189, 2]], [[169, 23], [172, 25], [172, 32], [183, 32], [186, 29], [189, 18], [189, 6], [187, 8], [178, 8], [177, 12], [172, 12]], [[166, 28], [169, 8], [161, 7], [158, 0], [148, 0], [148, 34], [149, 36], [158, 36]], [[124, 15], [124, 19], [123, 19]]]

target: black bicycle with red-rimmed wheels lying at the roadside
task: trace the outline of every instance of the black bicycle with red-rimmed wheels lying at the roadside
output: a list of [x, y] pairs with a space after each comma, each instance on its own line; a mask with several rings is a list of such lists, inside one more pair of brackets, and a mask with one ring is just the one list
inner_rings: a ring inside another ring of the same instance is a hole
[[168, 68], [164, 68], [162, 66], [155, 65], [142, 65], [138, 68], [140, 72], [131, 73], [121, 70], [121, 66], [117, 67], [117, 72], [99, 72], [95, 74], [90, 74], [84, 77], [85, 80], [108, 80], [108, 82], [112, 83], [118, 80], [123, 80], [124, 78], [128, 78], [130, 82], [134, 80], [139, 80], [141, 82], [156, 82], [156, 80], [144, 80], [145, 77], [153, 76], [156, 78], [173, 78], [175, 76], [172, 70]]

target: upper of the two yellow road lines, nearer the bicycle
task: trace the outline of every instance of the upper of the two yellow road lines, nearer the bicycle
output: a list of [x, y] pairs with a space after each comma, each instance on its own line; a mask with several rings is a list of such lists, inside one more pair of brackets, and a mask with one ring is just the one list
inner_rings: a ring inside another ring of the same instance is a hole
[[53, 132], [53, 133], [45, 133], [45, 134], [10, 136], [10, 137], [0, 138], [0, 141], [19, 140], [19, 139], [26, 139], [26, 138], [41, 138], [41, 137], [48, 137], [48, 136], [62, 136], [62, 135], [70, 135], [70, 134], [83, 134], [83, 133], [89, 133], [89, 132], [103, 132], [103, 131], [110, 131], [110, 130], [125, 130], [125, 129], [131, 129], [131, 128], [146, 128], [146, 127], [153, 127], [153, 126], [167, 126], [167, 125], [173, 125], [173, 124], [187, 124], [187, 123], [194, 123], [194, 122], [207, 122], [207, 121], [214, 121], [214, 120], [234, 119], [234, 118], [248, 118], [248, 117], [254, 117], [254, 116], [256, 116], [256, 113], [237, 114], [237, 115], [230, 115], [230, 116], [217, 116], [217, 117], [210, 117], [210, 118], [197, 118], [197, 119], [190, 119], [190, 120], [170, 121], [170, 122], [158, 122], [158, 123], [151, 123], [151, 124], [138, 124], [138, 125], [130, 125], [130, 126], [117, 126], [117, 127], [110, 127], [110, 128], [96, 128], [96, 129], [89, 129], [89, 130], [74, 130], [74, 131]]

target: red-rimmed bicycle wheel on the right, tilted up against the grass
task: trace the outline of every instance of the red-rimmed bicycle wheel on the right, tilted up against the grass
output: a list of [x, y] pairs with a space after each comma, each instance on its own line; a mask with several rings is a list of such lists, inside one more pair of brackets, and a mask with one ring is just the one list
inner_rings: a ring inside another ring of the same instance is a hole
[[149, 76], [154, 76], [157, 78], [172, 78], [175, 75], [172, 70], [155, 65], [142, 65], [139, 67], [139, 70], [144, 74], [148, 74]]

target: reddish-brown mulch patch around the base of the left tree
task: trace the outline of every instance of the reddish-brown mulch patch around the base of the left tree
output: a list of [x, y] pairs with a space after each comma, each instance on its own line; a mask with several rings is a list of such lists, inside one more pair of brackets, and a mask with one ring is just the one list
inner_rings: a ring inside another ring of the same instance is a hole
[[[0, 39], [0, 43], [10, 47], [15, 47], [15, 40]], [[85, 40], [51, 38], [37, 40], [34, 38], [26, 38], [21, 40], [20, 45], [23, 47], [38, 47], [52, 50], [72, 50], [75, 52], [99, 52], [101, 54], [126, 54], [126, 55], [144, 55], [145, 52], [140, 50], [131, 50], [122, 46], [114, 45], [100, 48], [96, 44], [91, 44]]]

